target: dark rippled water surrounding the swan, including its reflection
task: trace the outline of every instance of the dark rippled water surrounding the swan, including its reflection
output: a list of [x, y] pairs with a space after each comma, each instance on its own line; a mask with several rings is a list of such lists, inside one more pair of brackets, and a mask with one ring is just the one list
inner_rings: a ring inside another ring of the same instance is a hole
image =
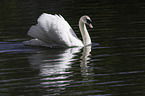
[[[145, 96], [145, 2], [1, 0], [0, 96]], [[81, 38], [89, 15], [93, 45], [24, 46], [42, 13], [61, 14]]]

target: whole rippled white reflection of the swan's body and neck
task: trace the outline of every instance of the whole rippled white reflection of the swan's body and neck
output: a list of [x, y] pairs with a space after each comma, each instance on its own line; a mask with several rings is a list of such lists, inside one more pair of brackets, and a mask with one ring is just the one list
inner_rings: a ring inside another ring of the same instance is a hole
[[[82, 75], [87, 74], [87, 63], [90, 60], [91, 46], [84, 47], [82, 54], [79, 54], [82, 48], [69, 48], [69, 49], [50, 49], [39, 50], [36, 54], [29, 57], [31, 67], [39, 69], [41, 77], [40, 82], [43, 87], [60, 87], [69, 85], [72, 80], [68, 79], [73, 73], [71, 64], [74, 63], [76, 56], [81, 56], [81, 72]], [[76, 54], [77, 53], [77, 54]], [[79, 55], [78, 55], [79, 54]], [[87, 74], [88, 75], [88, 74]]]

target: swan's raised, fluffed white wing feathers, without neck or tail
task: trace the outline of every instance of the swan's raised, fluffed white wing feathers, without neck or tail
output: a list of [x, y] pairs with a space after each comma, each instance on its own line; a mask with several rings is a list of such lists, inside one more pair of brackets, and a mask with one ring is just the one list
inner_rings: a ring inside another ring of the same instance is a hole
[[62, 16], [43, 13], [38, 24], [32, 26], [28, 35], [38, 38], [49, 46], [83, 46], [74, 31]]

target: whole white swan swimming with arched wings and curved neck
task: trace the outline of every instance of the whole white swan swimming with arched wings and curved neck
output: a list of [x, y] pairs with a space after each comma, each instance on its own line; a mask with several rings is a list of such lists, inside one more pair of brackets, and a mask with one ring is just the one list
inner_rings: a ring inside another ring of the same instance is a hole
[[86, 24], [93, 28], [91, 19], [82, 16], [79, 20], [79, 28], [83, 42], [76, 36], [68, 22], [61, 15], [51, 15], [43, 13], [37, 20], [38, 24], [31, 26], [28, 35], [34, 37], [29, 41], [24, 41], [25, 45], [46, 46], [46, 47], [74, 47], [87, 46], [91, 44], [91, 39], [86, 28]]

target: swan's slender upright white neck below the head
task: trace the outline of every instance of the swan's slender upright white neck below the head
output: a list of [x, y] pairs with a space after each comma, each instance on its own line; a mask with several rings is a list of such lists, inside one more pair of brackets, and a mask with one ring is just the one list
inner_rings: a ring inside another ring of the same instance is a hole
[[91, 44], [91, 38], [89, 36], [86, 25], [81, 20], [79, 21], [79, 28], [80, 28], [80, 31], [81, 31], [81, 34], [82, 34], [84, 46], [87, 46], [87, 45]]

